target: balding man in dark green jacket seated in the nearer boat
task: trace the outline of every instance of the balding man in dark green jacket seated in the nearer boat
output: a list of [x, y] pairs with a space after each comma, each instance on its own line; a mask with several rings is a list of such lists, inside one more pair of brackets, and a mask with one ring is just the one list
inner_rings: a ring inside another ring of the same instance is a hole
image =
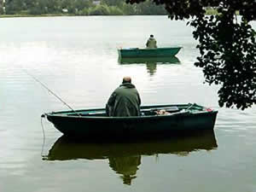
[[108, 99], [106, 112], [108, 116], [127, 117], [140, 115], [141, 98], [131, 77], [124, 77], [122, 84], [115, 89]]

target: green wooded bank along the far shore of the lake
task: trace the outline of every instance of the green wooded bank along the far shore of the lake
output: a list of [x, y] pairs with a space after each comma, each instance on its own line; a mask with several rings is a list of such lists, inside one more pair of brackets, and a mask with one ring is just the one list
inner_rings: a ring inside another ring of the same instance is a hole
[[125, 0], [6, 0], [1, 7], [6, 15], [166, 15], [162, 5], [148, 0], [133, 5]]

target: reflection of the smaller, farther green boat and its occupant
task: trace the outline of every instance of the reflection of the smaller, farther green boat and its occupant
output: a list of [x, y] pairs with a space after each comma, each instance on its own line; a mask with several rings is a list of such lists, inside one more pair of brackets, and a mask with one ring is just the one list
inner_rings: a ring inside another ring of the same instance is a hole
[[129, 64], [146, 64], [148, 73], [154, 75], [156, 72], [156, 66], [159, 64], [180, 64], [180, 61], [176, 56], [171, 57], [138, 57], [138, 58], [122, 58], [119, 57], [120, 65]]

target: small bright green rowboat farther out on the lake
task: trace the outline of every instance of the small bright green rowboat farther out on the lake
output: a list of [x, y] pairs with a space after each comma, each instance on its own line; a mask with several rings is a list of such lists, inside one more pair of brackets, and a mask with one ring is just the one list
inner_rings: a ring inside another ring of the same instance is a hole
[[123, 48], [118, 49], [120, 57], [166, 57], [175, 56], [182, 47], [167, 47], [154, 49]]

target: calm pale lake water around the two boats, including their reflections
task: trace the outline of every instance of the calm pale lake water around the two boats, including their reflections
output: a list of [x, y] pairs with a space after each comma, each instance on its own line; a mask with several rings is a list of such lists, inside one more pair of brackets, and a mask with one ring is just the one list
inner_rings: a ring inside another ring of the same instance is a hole
[[[256, 23], [253, 23], [256, 27]], [[256, 111], [218, 107], [218, 87], [193, 65], [192, 28], [166, 16], [0, 19], [0, 190], [256, 191]], [[175, 61], [119, 61], [117, 48], [181, 45]], [[72, 143], [41, 114], [102, 108], [130, 75], [143, 105], [218, 110], [213, 132], [137, 143]]]

